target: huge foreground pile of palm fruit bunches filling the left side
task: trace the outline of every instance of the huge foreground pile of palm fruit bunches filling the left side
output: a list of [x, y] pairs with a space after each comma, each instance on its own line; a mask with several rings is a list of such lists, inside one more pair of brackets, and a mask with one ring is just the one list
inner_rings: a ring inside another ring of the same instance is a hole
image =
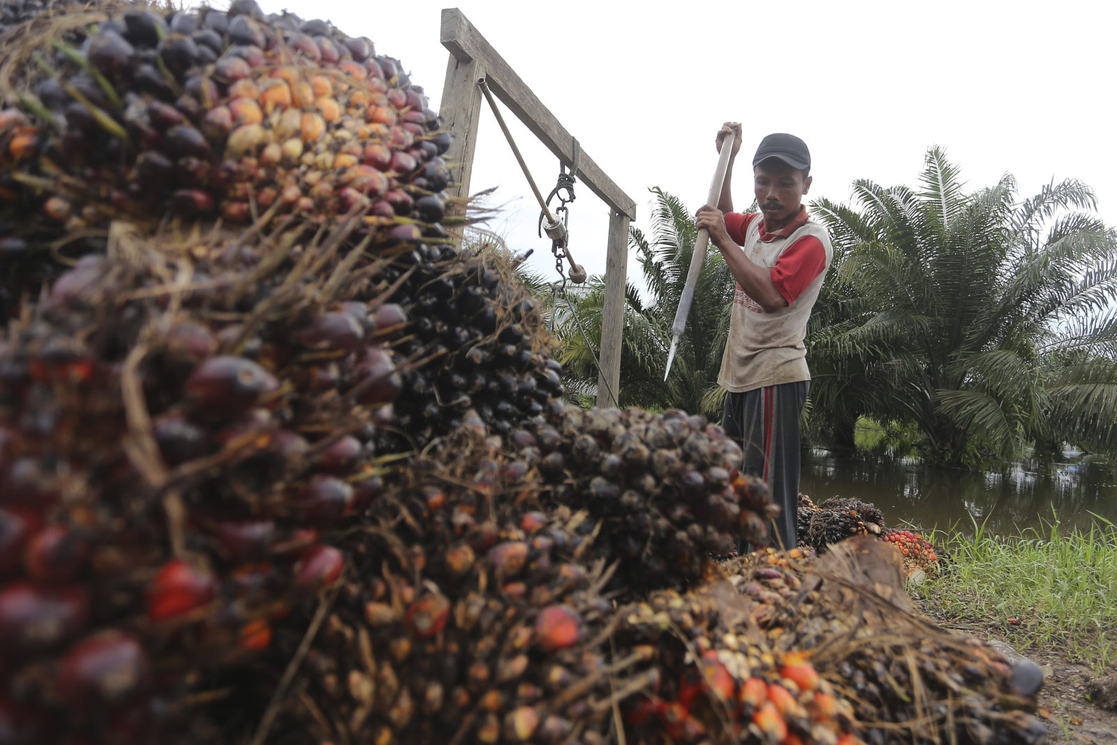
[[563, 405], [398, 60], [0, 8], [0, 743], [858, 742], [820, 617], [709, 558], [763, 485]]

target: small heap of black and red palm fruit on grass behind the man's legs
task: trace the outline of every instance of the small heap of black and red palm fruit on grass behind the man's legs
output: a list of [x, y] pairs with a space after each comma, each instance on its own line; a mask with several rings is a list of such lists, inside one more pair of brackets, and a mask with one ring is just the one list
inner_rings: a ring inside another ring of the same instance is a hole
[[941, 548], [919, 533], [886, 527], [884, 513], [860, 499], [832, 497], [815, 505], [808, 495], [800, 494], [795, 519], [800, 547], [813, 548], [819, 554], [855, 535], [873, 535], [899, 551], [908, 575], [932, 571], [946, 558]]

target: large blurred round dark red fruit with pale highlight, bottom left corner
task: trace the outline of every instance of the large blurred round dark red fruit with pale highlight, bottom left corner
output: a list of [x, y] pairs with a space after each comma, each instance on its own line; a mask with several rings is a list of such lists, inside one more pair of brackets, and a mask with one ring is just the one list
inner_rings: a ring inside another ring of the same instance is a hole
[[74, 644], [58, 669], [58, 693], [71, 707], [117, 706], [143, 693], [151, 662], [140, 640], [108, 629]]

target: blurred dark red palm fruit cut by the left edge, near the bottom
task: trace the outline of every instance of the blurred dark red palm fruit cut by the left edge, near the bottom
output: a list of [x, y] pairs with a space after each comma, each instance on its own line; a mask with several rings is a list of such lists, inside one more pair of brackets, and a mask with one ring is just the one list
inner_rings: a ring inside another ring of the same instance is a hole
[[0, 650], [18, 655], [54, 647], [80, 630], [88, 613], [79, 588], [7, 584], [0, 589]]

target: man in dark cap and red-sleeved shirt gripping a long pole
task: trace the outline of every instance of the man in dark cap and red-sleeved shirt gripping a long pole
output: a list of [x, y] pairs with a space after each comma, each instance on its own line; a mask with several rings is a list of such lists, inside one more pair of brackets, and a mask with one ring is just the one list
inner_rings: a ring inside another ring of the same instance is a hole
[[743, 470], [764, 479], [780, 505], [773, 542], [795, 546], [799, 507], [799, 418], [811, 373], [803, 336], [833, 249], [825, 229], [806, 217], [811, 153], [790, 134], [770, 134], [753, 157], [758, 214], [733, 212], [731, 181], [741, 124], [726, 122], [717, 150], [734, 133], [717, 208], [698, 210], [699, 228], [722, 251], [737, 280], [729, 337], [717, 382], [728, 391], [722, 427], [741, 441]]

